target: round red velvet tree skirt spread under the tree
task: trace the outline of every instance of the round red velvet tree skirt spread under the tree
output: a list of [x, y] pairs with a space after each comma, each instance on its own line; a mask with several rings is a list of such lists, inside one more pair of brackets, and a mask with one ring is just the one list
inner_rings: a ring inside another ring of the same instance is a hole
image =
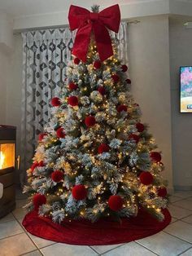
[[164, 222], [158, 222], [146, 212], [139, 212], [135, 218], [122, 218], [121, 223], [110, 219], [100, 219], [97, 223], [88, 220], [64, 221], [62, 225], [53, 223], [49, 218], [39, 217], [33, 211], [24, 217], [25, 229], [51, 241], [71, 245], [113, 245], [151, 236], [168, 226], [171, 215], [164, 210]]

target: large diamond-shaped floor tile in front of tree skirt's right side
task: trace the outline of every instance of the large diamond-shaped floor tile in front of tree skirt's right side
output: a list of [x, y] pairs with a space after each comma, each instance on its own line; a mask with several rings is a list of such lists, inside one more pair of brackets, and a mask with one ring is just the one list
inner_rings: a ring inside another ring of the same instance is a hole
[[189, 243], [165, 232], [159, 232], [154, 236], [148, 236], [137, 242], [160, 256], [176, 256], [191, 246]]

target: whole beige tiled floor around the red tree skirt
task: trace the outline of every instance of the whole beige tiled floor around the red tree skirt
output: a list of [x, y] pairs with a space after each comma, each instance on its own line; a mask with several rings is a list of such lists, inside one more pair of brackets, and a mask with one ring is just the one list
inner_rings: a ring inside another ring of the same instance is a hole
[[170, 197], [172, 223], [154, 236], [124, 245], [78, 246], [46, 241], [22, 227], [25, 199], [17, 194], [17, 208], [0, 219], [0, 256], [192, 256], [192, 192]]

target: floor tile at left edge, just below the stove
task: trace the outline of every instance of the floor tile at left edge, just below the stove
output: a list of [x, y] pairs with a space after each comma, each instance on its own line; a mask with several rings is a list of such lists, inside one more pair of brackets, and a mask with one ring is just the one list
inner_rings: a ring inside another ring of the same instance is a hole
[[20, 227], [20, 224], [15, 220], [6, 223], [0, 223], [0, 239], [7, 236], [14, 236], [22, 232], [24, 232], [23, 228]]

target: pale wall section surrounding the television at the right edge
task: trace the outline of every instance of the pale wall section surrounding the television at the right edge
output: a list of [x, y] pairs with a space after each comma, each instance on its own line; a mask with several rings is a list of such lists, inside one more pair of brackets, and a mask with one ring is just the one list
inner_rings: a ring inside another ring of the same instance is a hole
[[192, 65], [192, 29], [185, 19], [169, 20], [172, 95], [172, 163], [175, 188], [192, 189], [192, 114], [180, 113], [180, 66]]

